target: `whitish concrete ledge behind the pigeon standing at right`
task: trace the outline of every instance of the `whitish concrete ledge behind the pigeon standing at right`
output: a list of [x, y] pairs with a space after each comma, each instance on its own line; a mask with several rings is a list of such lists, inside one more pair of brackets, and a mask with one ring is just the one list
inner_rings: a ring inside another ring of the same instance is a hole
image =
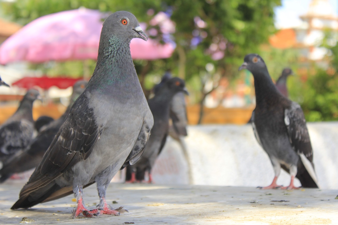
[[[308, 129], [320, 187], [338, 189], [338, 122], [308, 123]], [[189, 167], [190, 184], [257, 187], [273, 179], [251, 125], [189, 126], [184, 141], [188, 163], [178, 143], [168, 139], [153, 169], [156, 184], [189, 184]], [[282, 170], [277, 183], [289, 185], [289, 174]]]

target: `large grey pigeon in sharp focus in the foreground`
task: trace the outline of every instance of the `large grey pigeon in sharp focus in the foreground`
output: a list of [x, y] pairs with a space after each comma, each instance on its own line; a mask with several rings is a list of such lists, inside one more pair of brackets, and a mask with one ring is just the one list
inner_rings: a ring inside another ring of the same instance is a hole
[[[11, 209], [74, 193], [74, 217], [126, 211], [113, 210], [105, 192], [121, 168], [141, 157], [153, 125], [130, 55], [133, 38], [146, 41], [147, 35], [130, 12], [115, 12], [103, 22], [94, 73]], [[82, 189], [95, 182], [99, 206], [89, 211]]]

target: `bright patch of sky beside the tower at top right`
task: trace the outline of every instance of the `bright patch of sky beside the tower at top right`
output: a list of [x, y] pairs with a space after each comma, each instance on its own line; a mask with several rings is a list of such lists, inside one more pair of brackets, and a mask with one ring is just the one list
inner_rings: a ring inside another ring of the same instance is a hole
[[[306, 14], [311, 0], [282, 0], [282, 6], [275, 8], [277, 28], [295, 27], [300, 24], [299, 16]], [[329, 0], [334, 15], [338, 15], [338, 0]]]

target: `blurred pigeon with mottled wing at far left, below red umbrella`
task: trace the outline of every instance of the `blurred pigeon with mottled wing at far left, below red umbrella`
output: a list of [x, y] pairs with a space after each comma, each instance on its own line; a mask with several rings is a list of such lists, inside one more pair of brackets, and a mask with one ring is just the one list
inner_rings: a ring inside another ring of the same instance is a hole
[[20, 102], [17, 111], [0, 127], [0, 161], [2, 164], [16, 152], [27, 147], [33, 138], [33, 102], [41, 99], [38, 90], [30, 89]]

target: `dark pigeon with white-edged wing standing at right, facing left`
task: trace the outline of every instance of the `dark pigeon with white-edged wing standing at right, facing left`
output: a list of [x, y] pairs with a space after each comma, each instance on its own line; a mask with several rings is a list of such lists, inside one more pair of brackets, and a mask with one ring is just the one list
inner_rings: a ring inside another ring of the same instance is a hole
[[[313, 151], [303, 110], [296, 102], [284, 97], [273, 84], [264, 60], [248, 54], [239, 68], [254, 76], [256, 108], [252, 112], [252, 127], [258, 143], [268, 154], [275, 177], [262, 189], [297, 189], [297, 177], [304, 188], [318, 188], [313, 165]], [[291, 175], [290, 185], [276, 184], [281, 168]]]

